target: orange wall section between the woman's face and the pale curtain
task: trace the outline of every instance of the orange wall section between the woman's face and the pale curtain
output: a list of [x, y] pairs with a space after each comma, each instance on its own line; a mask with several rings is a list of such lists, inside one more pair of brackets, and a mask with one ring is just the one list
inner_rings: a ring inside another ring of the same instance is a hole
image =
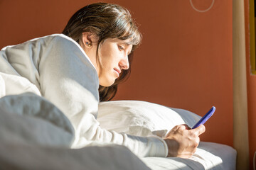
[[[199, 115], [215, 106], [202, 140], [233, 145], [232, 1], [216, 0], [206, 13], [193, 10], [189, 1], [159, 2], [130, 6], [144, 39], [132, 75], [114, 99], [151, 101]], [[212, 0], [193, 2], [203, 9]]]

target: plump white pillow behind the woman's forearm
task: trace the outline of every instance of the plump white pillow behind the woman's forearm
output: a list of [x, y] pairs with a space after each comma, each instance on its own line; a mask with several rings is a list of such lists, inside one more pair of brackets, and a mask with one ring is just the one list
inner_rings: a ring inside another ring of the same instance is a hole
[[146, 101], [105, 101], [99, 104], [97, 120], [107, 130], [129, 135], [164, 137], [175, 125], [193, 127], [201, 117], [190, 111]]

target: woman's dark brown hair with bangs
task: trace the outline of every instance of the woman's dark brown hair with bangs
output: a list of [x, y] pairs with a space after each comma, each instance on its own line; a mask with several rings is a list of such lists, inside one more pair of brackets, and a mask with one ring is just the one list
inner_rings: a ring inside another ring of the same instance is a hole
[[[95, 3], [78, 10], [68, 21], [63, 30], [63, 34], [80, 42], [82, 33], [90, 32], [97, 36], [97, 61], [100, 45], [107, 38], [119, 38], [120, 40], [130, 39], [132, 52], [128, 56], [129, 65], [132, 64], [134, 49], [140, 44], [142, 35], [132, 20], [132, 16], [126, 8], [116, 4]], [[110, 101], [117, 93], [117, 85], [125, 81], [131, 72], [131, 67], [122, 70], [119, 78], [112, 86], [100, 86], [100, 101]]]

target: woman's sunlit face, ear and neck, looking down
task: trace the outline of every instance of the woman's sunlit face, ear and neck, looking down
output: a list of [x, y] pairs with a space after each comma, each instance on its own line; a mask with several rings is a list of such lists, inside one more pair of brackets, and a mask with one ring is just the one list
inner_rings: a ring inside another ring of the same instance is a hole
[[85, 53], [97, 70], [101, 86], [111, 86], [122, 69], [129, 69], [128, 55], [132, 51], [132, 45], [128, 42], [129, 39], [107, 38], [99, 47], [100, 63], [96, 60], [97, 44], [92, 42], [90, 49], [85, 48]]

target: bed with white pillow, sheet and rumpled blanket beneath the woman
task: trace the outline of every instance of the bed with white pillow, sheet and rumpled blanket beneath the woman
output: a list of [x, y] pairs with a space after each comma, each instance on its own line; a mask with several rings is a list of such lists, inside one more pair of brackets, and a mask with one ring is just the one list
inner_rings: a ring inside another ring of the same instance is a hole
[[[98, 112], [102, 128], [140, 136], [163, 137], [174, 125], [192, 126], [199, 118], [146, 101], [102, 102]], [[137, 157], [127, 147], [112, 144], [70, 149], [74, 130], [68, 118], [32, 93], [0, 98], [0, 135], [0, 169], [228, 170], [236, 162], [235, 149], [213, 142], [200, 142], [190, 159]]]

